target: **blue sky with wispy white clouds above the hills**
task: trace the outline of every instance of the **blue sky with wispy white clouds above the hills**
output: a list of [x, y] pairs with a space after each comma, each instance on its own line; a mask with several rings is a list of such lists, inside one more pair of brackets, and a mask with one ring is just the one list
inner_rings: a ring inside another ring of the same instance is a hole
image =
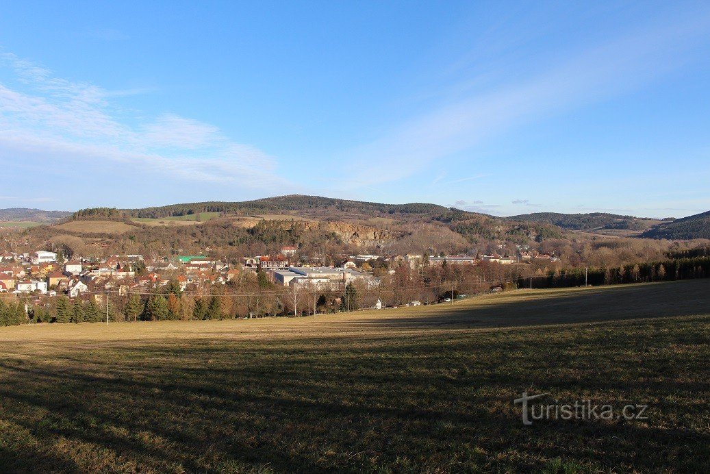
[[2, 10], [0, 208], [710, 210], [706, 1]]

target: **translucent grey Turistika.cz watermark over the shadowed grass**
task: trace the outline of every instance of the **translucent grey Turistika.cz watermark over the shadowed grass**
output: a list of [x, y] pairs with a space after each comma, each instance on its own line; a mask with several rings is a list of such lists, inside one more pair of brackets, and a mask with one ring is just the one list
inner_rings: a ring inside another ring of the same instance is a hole
[[547, 397], [550, 393], [530, 395], [523, 392], [523, 397], [513, 400], [523, 409], [523, 424], [531, 425], [537, 420], [647, 420], [645, 411], [648, 405], [624, 405], [621, 410], [609, 404], [595, 404], [591, 400], [575, 400], [572, 404], [532, 404], [531, 400]]

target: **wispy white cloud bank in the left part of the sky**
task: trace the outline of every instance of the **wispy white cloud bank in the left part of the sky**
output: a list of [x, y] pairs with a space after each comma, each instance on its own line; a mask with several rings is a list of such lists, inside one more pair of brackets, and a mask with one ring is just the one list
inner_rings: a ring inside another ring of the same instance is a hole
[[3, 66], [18, 87], [0, 84], [0, 151], [94, 167], [121, 163], [193, 182], [288, 185], [274, 158], [229, 140], [217, 126], [173, 113], [146, 122], [111, 101], [141, 90], [112, 92], [54, 77], [12, 53], [0, 53]]

